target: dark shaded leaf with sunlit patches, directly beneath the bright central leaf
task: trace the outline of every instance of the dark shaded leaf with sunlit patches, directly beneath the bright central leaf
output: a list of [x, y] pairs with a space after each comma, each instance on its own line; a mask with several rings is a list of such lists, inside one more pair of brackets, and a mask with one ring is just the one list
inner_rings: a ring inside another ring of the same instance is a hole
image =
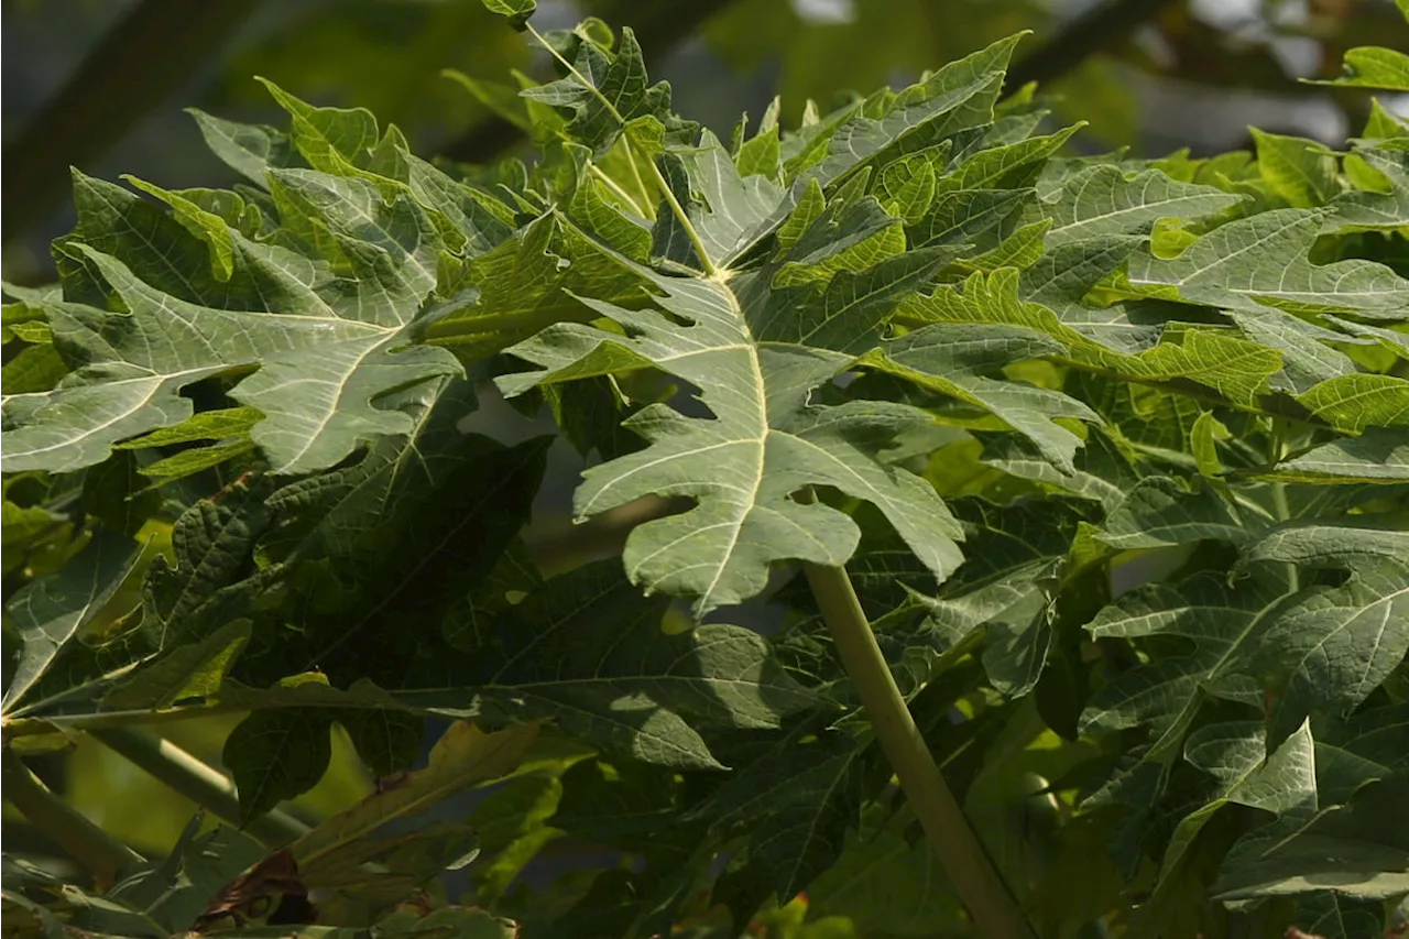
[[720, 623], [666, 633], [666, 606], [643, 598], [614, 561], [581, 567], [504, 610], [482, 647], [424, 660], [399, 698], [552, 719], [648, 763], [710, 768], [709, 726], [778, 728], [817, 704], [757, 633]]

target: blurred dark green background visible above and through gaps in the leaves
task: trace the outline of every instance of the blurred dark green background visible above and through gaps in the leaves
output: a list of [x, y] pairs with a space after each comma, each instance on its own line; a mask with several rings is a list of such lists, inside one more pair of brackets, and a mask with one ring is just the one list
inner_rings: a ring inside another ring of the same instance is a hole
[[[1299, 79], [1340, 73], [1351, 47], [1409, 49], [1392, 0], [541, 0], [535, 23], [589, 14], [633, 27], [678, 109], [721, 135], [775, 94], [796, 123], [809, 99], [907, 83], [1029, 30], [1010, 90], [1038, 82], [1053, 123], [1088, 121], [1075, 149], [1138, 155], [1243, 148], [1248, 124], [1340, 145], [1364, 125], [1368, 93]], [[48, 243], [72, 224], [69, 166], [165, 188], [228, 185], [182, 109], [282, 121], [255, 75], [318, 104], [365, 106], [426, 156], [483, 161], [520, 147], [445, 69], [509, 82], [547, 62], [480, 0], [0, 0], [0, 278], [51, 278]], [[1409, 113], [1409, 102], [1381, 103]], [[488, 400], [479, 420], [533, 430]], [[535, 512], [550, 527], [566, 524], [581, 468], [558, 455], [545, 486], [554, 512]], [[218, 766], [228, 729], [192, 722], [172, 739]], [[148, 850], [170, 845], [193, 811], [93, 743], [35, 768]], [[372, 784], [338, 743], [334, 771], [294, 809], [317, 818]], [[6, 822], [8, 839], [25, 837], [0, 806]]]

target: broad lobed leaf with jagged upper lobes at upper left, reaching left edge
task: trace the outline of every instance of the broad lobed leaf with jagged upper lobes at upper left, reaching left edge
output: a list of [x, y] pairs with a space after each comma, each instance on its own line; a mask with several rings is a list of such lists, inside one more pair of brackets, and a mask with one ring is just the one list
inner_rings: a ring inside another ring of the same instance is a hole
[[173, 206], [168, 216], [76, 178], [65, 296], [42, 306], [76, 368], [62, 388], [4, 399], [7, 471], [100, 462], [113, 444], [187, 419], [187, 385], [251, 368], [232, 395], [265, 415], [252, 437], [272, 468], [321, 470], [364, 440], [410, 430], [380, 398], [461, 371], [448, 351], [414, 347], [442, 314], [427, 300], [442, 261], [503, 241], [511, 210], [411, 156], [395, 128], [378, 138], [366, 111], [273, 92], [316, 168], [235, 161], [262, 171], [275, 219], [261, 221], [234, 193], [200, 206], [144, 185]]

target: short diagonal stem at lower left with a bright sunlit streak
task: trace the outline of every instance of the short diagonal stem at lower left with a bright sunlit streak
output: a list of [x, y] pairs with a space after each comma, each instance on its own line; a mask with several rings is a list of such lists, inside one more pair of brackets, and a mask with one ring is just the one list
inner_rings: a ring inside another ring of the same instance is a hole
[[[209, 809], [221, 821], [240, 825], [240, 798], [235, 795], [234, 782], [170, 740], [135, 728], [92, 733], [107, 749], [120, 753], [175, 792]], [[244, 829], [269, 847], [287, 845], [309, 832], [307, 825], [279, 809], [255, 818]]]

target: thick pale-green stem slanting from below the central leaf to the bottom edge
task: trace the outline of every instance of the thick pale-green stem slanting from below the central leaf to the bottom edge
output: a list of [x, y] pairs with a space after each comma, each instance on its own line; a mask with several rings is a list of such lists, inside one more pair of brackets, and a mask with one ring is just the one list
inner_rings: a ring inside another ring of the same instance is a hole
[[988, 939], [1033, 939], [1017, 901], [969, 828], [914, 726], [845, 568], [806, 564], [805, 570], [837, 656], [857, 685], [881, 749], [979, 932]]

